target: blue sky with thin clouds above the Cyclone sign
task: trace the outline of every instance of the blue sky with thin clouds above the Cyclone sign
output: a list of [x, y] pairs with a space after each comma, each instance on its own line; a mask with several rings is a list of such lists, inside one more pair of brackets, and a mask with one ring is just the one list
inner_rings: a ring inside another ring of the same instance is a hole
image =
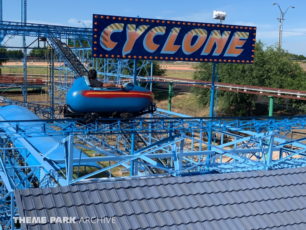
[[[282, 10], [290, 8], [285, 14], [283, 25], [282, 48], [289, 52], [306, 56], [306, 0], [256, 0], [256, 1], [89, 1], [89, 0], [28, 0], [27, 21], [49, 25], [65, 25], [82, 27], [91, 24], [92, 14], [109, 14], [127, 17], [148, 17], [181, 21], [217, 22], [212, 19], [213, 10], [225, 11], [227, 14], [224, 23], [257, 26], [256, 39], [261, 39], [267, 45], [278, 42], [279, 17], [277, 5]], [[20, 0], [3, 0], [3, 20], [20, 21]], [[35, 38], [27, 38], [30, 44]], [[5, 39], [5, 41], [7, 38]], [[21, 39], [16, 37], [7, 43], [10, 46], [20, 46]]]

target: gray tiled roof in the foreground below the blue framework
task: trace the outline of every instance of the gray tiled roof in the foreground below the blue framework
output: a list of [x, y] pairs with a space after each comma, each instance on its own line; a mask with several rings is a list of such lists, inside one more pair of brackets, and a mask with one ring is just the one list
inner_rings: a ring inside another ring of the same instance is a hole
[[[23, 229], [306, 229], [306, 168], [15, 190], [21, 217], [116, 217]], [[111, 222], [111, 221], [110, 221]]]

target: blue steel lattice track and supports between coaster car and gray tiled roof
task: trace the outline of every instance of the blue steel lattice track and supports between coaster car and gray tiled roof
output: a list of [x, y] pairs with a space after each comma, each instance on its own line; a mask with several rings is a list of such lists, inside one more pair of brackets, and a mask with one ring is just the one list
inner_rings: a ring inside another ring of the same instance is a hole
[[[228, 117], [214, 121], [173, 116], [183, 115], [158, 109], [151, 118], [99, 119], [87, 125], [72, 119], [1, 121], [2, 226], [8, 226], [11, 217], [18, 215], [14, 189], [306, 166], [306, 144], [303, 143], [306, 137], [297, 140], [287, 137], [293, 129], [306, 128], [305, 116]], [[210, 131], [215, 134], [211, 144], [203, 140]], [[26, 141], [33, 135], [64, 138], [49, 151], [38, 152]], [[219, 144], [215, 145], [218, 140]], [[62, 158], [48, 157], [61, 146], [65, 146]], [[94, 150], [95, 157], [73, 158], [73, 148], [69, 146]], [[105, 165], [111, 161], [116, 163], [73, 177], [75, 163], [104, 162]], [[65, 173], [63, 168], [62, 173], [54, 171], [61, 164], [66, 166]], [[118, 166], [124, 166], [123, 171], [129, 171], [130, 176], [94, 178], [102, 172], [111, 175], [111, 170]]]

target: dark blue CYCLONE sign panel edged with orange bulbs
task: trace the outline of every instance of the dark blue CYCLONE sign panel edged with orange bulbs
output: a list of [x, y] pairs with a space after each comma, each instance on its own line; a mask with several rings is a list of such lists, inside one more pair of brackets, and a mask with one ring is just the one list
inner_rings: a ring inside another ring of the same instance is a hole
[[93, 15], [96, 58], [253, 63], [256, 27]]

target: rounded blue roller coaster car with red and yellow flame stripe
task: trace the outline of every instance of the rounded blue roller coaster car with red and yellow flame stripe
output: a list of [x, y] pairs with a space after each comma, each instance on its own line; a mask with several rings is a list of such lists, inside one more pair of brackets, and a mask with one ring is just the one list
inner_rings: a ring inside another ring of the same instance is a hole
[[122, 90], [96, 88], [90, 86], [87, 76], [78, 78], [69, 90], [67, 104], [60, 109], [60, 113], [64, 113], [64, 117], [93, 121], [102, 117], [129, 119], [156, 111], [154, 95], [150, 90], [129, 82], [124, 86]]

